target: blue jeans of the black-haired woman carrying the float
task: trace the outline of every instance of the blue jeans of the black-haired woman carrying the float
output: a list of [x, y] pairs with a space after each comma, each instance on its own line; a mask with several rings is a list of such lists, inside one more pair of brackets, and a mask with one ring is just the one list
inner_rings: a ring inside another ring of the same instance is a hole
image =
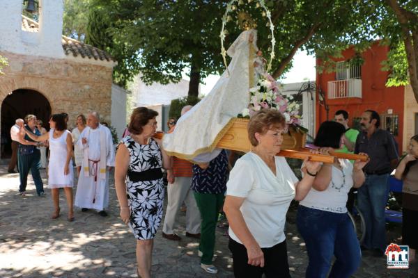
[[359, 268], [362, 251], [347, 213], [332, 213], [299, 206], [297, 229], [307, 245], [309, 264], [306, 277], [350, 277]]

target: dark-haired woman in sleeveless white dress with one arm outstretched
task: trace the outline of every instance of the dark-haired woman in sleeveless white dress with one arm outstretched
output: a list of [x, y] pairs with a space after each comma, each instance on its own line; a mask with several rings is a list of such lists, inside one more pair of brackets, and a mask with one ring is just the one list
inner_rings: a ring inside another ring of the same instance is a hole
[[41, 136], [29, 132], [26, 132], [26, 134], [37, 142], [49, 140], [48, 186], [51, 188], [55, 208], [52, 219], [59, 218], [59, 188], [64, 188], [68, 205], [68, 221], [71, 222], [74, 220], [71, 133], [67, 130], [67, 122], [65, 122], [65, 117], [62, 114], [52, 115], [51, 120], [49, 120], [49, 127], [51, 128], [49, 133]]

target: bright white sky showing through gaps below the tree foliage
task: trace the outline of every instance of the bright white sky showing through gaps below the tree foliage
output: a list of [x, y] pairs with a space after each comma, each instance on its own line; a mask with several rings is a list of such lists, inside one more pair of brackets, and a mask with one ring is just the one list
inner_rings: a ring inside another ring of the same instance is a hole
[[[183, 78], [189, 80], [185, 74]], [[304, 80], [315, 80], [315, 56], [307, 55], [306, 51], [297, 51], [295, 57], [293, 57], [293, 67], [290, 72], [288, 72], [283, 79], [280, 79], [281, 83], [296, 83], [302, 82]], [[210, 75], [204, 82], [206, 85], [201, 84], [201, 94], [206, 95], [212, 87], [215, 85], [219, 76]]]

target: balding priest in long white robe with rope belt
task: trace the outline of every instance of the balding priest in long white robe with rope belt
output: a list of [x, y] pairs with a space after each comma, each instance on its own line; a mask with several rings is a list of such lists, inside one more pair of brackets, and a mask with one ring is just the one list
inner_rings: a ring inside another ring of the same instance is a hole
[[98, 113], [89, 113], [87, 127], [80, 134], [77, 145], [84, 152], [82, 172], [79, 174], [75, 206], [87, 211], [93, 208], [107, 216], [109, 206], [109, 170], [115, 165], [115, 151], [111, 132], [100, 124]]

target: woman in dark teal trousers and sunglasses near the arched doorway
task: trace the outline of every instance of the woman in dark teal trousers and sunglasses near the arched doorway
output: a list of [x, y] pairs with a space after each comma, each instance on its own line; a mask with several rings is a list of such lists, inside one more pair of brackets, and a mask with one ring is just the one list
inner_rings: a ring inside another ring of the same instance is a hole
[[19, 147], [17, 162], [19, 165], [19, 177], [20, 177], [20, 195], [26, 195], [26, 185], [28, 181], [29, 170], [31, 171], [33, 182], [36, 186], [36, 193], [40, 197], [45, 197], [43, 189], [42, 179], [40, 178], [40, 150], [36, 148], [37, 142], [33, 141], [29, 136], [26, 135], [23, 129], [35, 133], [40, 136], [40, 131], [36, 128], [38, 123], [35, 115], [26, 115], [24, 117], [26, 124], [22, 127], [19, 132]]

